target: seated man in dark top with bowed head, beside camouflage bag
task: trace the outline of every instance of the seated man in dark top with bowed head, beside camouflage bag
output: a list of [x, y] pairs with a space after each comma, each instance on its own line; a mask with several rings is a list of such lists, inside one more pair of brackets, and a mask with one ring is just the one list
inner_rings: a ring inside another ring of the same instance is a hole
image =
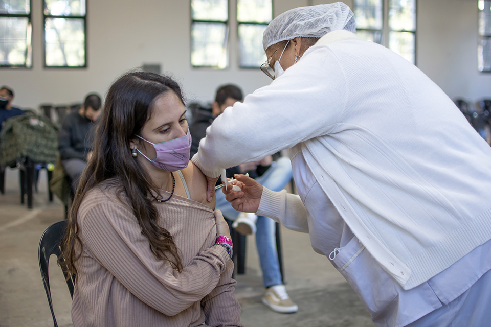
[[80, 175], [92, 156], [93, 127], [101, 113], [101, 98], [93, 93], [85, 97], [77, 111], [66, 116], [58, 135], [58, 150], [65, 172], [77, 190]]

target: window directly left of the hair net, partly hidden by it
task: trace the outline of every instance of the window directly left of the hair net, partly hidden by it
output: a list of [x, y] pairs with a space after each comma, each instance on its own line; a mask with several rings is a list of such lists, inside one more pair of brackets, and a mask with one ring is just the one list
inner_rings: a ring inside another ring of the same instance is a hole
[[271, 0], [237, 0], [240, 67], [258, 68], [266, 61], [262, 33], [272, 19]]

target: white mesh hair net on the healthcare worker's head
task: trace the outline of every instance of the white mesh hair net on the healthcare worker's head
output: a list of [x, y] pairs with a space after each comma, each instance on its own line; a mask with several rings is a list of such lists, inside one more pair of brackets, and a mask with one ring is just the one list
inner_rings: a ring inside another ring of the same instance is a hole
[[322, 37], [335, 30], [355, 31], [354, 14], [346, 4], [337, 2], [294, 8], [267, 25], [262, 35], [262, 46], [265, 51], [273, 44], [297, 36]]

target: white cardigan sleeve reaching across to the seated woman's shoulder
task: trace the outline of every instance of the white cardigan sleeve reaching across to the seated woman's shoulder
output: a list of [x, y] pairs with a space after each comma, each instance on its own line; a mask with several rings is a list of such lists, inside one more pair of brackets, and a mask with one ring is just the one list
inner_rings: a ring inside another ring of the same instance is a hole
[[270, 85], [219, 115], [192, 161], [205, 175], [217, 177], [222, 168], [328, 134], [340, 120], [347, 94], [336, 56], [326, 47], [310, 51]]

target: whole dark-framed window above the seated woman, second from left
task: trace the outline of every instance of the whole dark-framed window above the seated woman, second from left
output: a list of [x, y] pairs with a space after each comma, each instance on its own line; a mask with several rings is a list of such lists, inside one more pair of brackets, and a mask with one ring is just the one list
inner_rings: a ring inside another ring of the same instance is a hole
[[85, 0], [44, 0], [44, 66], [86, 67]]

